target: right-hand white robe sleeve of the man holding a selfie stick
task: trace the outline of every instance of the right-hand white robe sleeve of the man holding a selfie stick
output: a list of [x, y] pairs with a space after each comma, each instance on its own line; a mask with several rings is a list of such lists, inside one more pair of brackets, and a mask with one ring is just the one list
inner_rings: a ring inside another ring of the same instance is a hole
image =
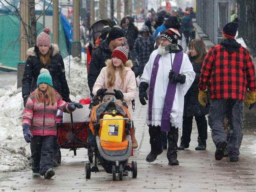
[[181, 92], [185, 96], [190, 86], [193, 84], [196, 73], [193, 70], [193, 66], [188, 58], [187, 54], [183, 54], [183, 62], [181, 67], [181, 74], [186, 75], [186, 81], [181, 84]]

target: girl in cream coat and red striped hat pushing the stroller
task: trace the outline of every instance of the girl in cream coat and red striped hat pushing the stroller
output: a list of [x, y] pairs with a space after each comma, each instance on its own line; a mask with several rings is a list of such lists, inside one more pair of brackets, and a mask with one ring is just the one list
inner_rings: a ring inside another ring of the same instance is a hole
[[[130, 114], [132, 113], [132, 100], [136, 97], [136, 78], [134, 72], [131, 70], [132, 61], [128, 60], [128, 47], [117, 47], [111, 59], [106, 61], [106, 67], [103, 67], [100, 74], [93, 86], [92, 93], [94, 95], [103, 95], [104, 92], [115, 92], [115, 97], [106, 95], [103, 101], [114, 101], [122, 104], [120, 99], [124, 99], [128, 105]], [[135, 130], [132, 135], [132, 147], [138, 147], [137, 140], [135, 139]]]

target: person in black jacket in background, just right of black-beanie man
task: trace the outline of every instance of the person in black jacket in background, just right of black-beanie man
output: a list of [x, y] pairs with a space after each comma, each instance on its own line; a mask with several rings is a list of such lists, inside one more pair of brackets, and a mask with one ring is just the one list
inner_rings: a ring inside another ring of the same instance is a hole
[[134, 19], [131, 16], [126, 17], [126, 26], [124, 30], [124, 36], [127, 39], [129, 45], [129, 50], [133, 51], [133, 44], [136, 38], [138, 37], [138, 28], [134, 25]]

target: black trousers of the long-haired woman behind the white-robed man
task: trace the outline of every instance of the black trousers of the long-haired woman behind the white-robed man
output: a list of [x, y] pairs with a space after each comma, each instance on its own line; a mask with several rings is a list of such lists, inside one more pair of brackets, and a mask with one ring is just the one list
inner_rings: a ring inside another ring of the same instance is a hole
[[[207, 139], [207, 121], [205, 116], [195, 116], [197, 130], [198, 130], [198, 137], [197, 141], [199, 145], [206, 146], [206, 139]], [[182, 137], [181, 137], [181, 144], [184, 146], [189, 146], [191, 141], [191, 131], [192, 131], [192, 122], [193, 116], [191, 117], [183, 117], [183, 126], [182, 126]]]

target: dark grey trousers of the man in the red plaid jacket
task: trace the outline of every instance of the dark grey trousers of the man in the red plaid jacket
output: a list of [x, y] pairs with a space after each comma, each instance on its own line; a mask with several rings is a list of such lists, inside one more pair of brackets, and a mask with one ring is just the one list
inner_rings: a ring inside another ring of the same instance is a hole
[[227, 136], [223, 129], [223, 119], [228, 113], [230, 136], [227, 142], [229, 157], [238, 157], [242, 143], [244, 101], [238, 99], [212, 100], [209, 111], [209, 125], [212, 129], [212, 138], [218, 148], [222, 142], [227, 142]]

